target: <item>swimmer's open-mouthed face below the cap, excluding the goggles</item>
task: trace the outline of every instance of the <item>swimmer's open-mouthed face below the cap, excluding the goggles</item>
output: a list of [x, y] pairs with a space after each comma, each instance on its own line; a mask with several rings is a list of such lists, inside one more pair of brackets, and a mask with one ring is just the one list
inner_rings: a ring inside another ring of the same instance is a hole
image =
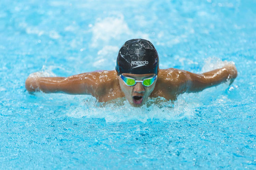
[[[155, 74], [129, 74], [123, 73], [124, 77], [130, 77], [135, 80], [144, 80], [146, 78], [155, 77]], [[119, 85], [129, 103], [134, 107], [142, 106], [155, 88], [156, 81], [151, 86], [143, 86], [141, 82], [137, 82], [134, 86], [127, 86], [122, 78], [118, 76]]]

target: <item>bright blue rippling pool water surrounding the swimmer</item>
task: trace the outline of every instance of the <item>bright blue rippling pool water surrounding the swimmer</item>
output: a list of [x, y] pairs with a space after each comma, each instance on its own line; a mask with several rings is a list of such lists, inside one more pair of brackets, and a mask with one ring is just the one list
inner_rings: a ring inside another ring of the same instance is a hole
[[[0, 169], [256, 169], [255, 18], [249, 0], [0, 1]], [[238, 77], [141, 108], [26, 91], [32, 72], [113, 70], [132, 38], [162, 69]]]

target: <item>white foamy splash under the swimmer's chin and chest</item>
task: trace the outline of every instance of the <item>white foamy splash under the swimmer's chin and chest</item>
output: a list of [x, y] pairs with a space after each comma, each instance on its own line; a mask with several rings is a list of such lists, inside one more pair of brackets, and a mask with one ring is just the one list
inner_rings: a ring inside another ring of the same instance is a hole
[[[197, 106], [197, 105], [194, 105]], [[180, 98], [174, 103], [162, 98], [150, 99], [142, 107], [132, 107], [125, 98], [110, 103], [98, 103], [95, 98], [87, 98], [75, 109], [71, 108], [67, 116], [76, 118], [101, 118], [106, 122], [127, 122], [139, 120], [178, 120], [193, 116], [194, 108], [189, 102]]]

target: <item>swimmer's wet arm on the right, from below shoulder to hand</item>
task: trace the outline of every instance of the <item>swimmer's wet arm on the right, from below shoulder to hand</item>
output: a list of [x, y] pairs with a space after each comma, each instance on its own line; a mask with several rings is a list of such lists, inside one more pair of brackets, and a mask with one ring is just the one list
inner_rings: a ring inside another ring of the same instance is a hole
[[227, 81], [230, 81], [230, 84], [232, 84], [234, 79], [237, 77], [237, 68], [235, 65], [230, 64], [223, 68], [202, 74], [195, 74], [188, 71], [186, 71], [186, 74], [187, 81], [186, 86], [184, 86], [186, 87], [184, 92], [197, 92]]

